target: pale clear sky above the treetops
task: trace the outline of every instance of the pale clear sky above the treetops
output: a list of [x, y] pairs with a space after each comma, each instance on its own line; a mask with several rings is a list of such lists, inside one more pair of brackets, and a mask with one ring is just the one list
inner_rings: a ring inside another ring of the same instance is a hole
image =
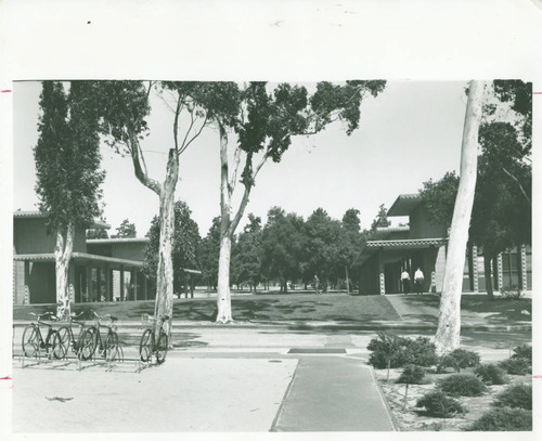
[[[249, 212], [264, 222], [273, 206], [304, 218], [322, 207], [335, 219], [357, 208], [362, 228], [369, 228], [380, 204], [389, 208], [399, 194], [416, 193], [423, 182], [459, 170], [465, 86], [465, 81], [388, 81], [377, 98], [362, 102], [360, 127], [350, 137], [344, 125], [335, 122], [318, 135], [294, 138], [281, 163], [268, 161], [257, 177], [237, 232]], [[37, 209], [33, 147], [40, 90], [38, 81], [15, 82], [13, 88], [15, 210]], [[157, 96], [151, 104], [150, 135], [142, 145], [150, 176], [162, 182], [173, 140], [172, 115]], [[129, 219], [138, 236], [143, 236], [158, 212], [158, 197], [136, 179], [128, 156], [105, 144], [101, 152], [109, 233]], [[188, 203], [202, 236], [219, 215], [219, 182], [218, 132], [207, 128], [181, 155], [176, 193], [177, 199]], [[242, 190], [238, 184], [236, 194]], [[392, 224], [404, 221], [391, 220]]]

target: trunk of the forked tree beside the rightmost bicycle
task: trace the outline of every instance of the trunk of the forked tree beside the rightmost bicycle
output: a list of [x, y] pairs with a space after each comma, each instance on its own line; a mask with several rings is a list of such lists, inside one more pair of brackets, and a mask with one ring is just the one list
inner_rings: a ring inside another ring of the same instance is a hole
[[[166, 179], [162, 185], [160, 197], [160, 237], [158, 246], [158, 265], [156, 268], [156, 302], [154, 316], [168, 315], [165, 330], [171, 333], [173, 317], [173, 258], [172, 246], [175, 236], [175, 189], [179, 179], [179, 157], [177, 152], [169, 151]], [[156, 329], [158, 330], [158, 329]]]

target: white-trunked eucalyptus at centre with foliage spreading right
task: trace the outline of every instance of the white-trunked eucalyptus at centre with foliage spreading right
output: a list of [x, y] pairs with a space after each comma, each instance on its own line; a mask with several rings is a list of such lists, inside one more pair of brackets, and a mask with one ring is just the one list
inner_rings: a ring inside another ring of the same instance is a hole
[[[346, 132], [351, 134], [359, 126], [362, 100], [367, 94], [377, 96], [384, 90], [385, 83], [347, 81], [333, 85], [323, 81], [319, 82], [315, 91], [310, 94], [304, 86], [280, 83], [271, 88], [266, 82], [250, 82], [238, 93], [240, 106], [236, 117], [231, 118], [231, 114], [228, 114], [228, 118], [217, 118], [221, 177], [217, 322], [232, 321], [232, 239], [261, 168], [269, 160], [279, 163], [291, 146], [293, 137], [319, 133], [336, 120], [346, 122]], [[236, 134], [236, 143], [233, 146], [229, 143], [229, 133]], [[230, 158], [233, 160], [230, 161]], [[232, 200], [240, 170], [243, 194], [233, 209]]]

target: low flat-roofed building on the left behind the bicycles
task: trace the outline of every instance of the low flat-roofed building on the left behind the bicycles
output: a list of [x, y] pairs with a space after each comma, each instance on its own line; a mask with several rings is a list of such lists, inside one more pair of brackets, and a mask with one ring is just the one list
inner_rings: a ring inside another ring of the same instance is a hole
[[[56, 303], [55, 236], [39, 211], [13, 213], [13, 303]], [[93, 222], [88, 229], [109, 229]], [[87, 239], [85, 226], [75, 231], [68, 270], [73, 301], [121, 301], [154, 298], [142, 273], [149, 238]]]

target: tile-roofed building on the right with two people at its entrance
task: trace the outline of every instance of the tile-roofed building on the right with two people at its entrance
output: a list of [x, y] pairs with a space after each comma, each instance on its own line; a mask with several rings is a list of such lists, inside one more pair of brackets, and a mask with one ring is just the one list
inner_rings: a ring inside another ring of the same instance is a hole
[[[414, 282], [414, 272], [424, 273], [423, 291], [442, 290], [448, 232], [434, 223], [418, 194], [402, 194], [388, 210], [388, 217], [408, 217], [403, 226], [378, 228], [356, 261], [360, 294], [399, 294], [401, 273], [406, 271]], [[483, 293], [486, 276], [493, 277], [496, 290], [529, 290], [532, 286], [531, 247], [519, 246], [499, 255], [491, 274], [485, 274], [483, 250], [472, 247], [465, 251], [464, 293]]]

